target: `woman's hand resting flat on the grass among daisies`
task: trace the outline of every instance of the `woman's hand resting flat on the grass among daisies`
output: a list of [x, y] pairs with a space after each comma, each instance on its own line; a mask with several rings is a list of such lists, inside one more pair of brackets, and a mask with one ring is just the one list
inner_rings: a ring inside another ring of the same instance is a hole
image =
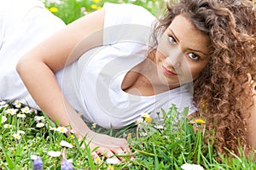
[[[106, 134], [94, 133], [90, 131], [85, 141], [90, 146], [90, 150], [94, 150], [91, 153], [94, 159], [99, 156], [105, 156], [107, 158], [112, 157], [118, 161], [122, 161], [124, 158], [122, 155], [130, 155], [131, 150], [125, 139], [113, 138]], [[119, 156], [120, 155], [120, 156]]]

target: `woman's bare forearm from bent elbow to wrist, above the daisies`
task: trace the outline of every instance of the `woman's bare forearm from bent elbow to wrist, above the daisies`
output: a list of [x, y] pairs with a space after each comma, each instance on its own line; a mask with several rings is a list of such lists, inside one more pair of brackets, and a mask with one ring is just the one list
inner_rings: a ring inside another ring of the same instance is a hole
[[[31, 59], [24, 59], [19, 62], [17, 71], [32, 98], [52, 121], [60, 122], [61, 126], [70, 125], [77, 135], [84, 136], [91, 133], [90, 128], [68, 104], [61, 93], [55, 74], [47, 65]], [[92, 133], [90, 135], [93, 136]]]

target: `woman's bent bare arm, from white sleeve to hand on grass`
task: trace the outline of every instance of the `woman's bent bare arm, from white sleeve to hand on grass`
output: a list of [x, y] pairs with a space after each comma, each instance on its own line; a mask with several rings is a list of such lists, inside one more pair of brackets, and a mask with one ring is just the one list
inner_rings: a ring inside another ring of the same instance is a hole
[[[111, 156], [115, 152], [128, 150], [126, 141], [90, 131], [90, 128], [68, 104], [55, 80], [55, 71], [61, 70], [65, 65], [78, 59], [79, 53], [82, 54], [86, 49], [102, 45], [103, 21], [104, 10], [87, 14], [74, 21], [38, 44], [37, 47], [32, 48], [20, 59], [17, 71], [32, 98], [51, 120], [54, 122], [58, 120], [61, 126], [70, 124], [79, 138], [87, 135], [89, 139], [93, 139], [93, 142], [90, 143], [91, 149], [102, 145], [99, 152], [109, 150], [111, 152], [109, 156]], [[83, 42], [84, 39], [86, 42]], [[83, 43], [83, 50], [80, 52], [76, 50], [77, 54], [70, 55], [73, 48], [77, 48], [77, 44], [80, 42]], [[72, 115], [72, 122], [69, 121], [67, 112], [69, 116]]]

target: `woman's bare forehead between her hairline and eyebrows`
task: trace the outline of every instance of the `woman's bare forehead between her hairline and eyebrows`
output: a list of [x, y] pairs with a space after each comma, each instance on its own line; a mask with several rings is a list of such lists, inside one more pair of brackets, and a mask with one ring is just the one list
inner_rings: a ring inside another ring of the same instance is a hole
[[185, 48], [209, 52], [210, 38], [196, 29], [192, 22], [183, 15], [177, 15], [166, 31], [171, 31]]

